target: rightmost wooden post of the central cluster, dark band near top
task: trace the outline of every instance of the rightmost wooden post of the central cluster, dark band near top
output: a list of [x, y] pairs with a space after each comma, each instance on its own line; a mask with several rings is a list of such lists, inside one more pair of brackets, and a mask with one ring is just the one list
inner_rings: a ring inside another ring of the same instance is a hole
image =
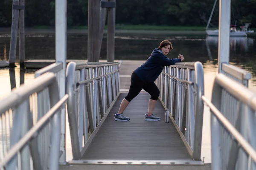
[[[116, 0], [109, 0], [115, 3]], [[116, 23], [116, 8], [108, 9], [108, 40], [107, 40], [107, 61], [113, 62], [115, 59], [115, 23]]]

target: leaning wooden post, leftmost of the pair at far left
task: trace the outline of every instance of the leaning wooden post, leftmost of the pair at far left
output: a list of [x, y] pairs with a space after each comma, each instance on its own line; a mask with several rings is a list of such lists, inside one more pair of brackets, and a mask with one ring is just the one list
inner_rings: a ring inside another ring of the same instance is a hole
[[19, 0], [12, 1], [12, 30], [11, 30], [11, 44], [9, 53], [9, 67], [15, 67], [16, 47], [17, 47], [17, 32], [19, 19]]

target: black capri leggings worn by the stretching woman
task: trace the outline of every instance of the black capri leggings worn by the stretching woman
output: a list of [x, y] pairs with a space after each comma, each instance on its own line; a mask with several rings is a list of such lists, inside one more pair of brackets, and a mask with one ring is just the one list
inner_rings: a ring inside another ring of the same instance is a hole
[[131, 74], [130, 89], [127, 96], [125, 96], [125, 99], [128, 102], [131, 102], [131, 100], [134, 99], [134, 97], [136, 97], [142, 89], [144, 89], [146, 92], [148, 92], [148, 94], [151, 95], [150, 99], [152, 100], [158, 99], [160, 92], [159, 92], [159, 89], [157, 88], [157, 85], [154, 84], [154, 82], [148, 82], [148, 83], [143, 82], [142, 79], [140, 79], [140, 77], [138, 77], [137, 74], [133, 72]]

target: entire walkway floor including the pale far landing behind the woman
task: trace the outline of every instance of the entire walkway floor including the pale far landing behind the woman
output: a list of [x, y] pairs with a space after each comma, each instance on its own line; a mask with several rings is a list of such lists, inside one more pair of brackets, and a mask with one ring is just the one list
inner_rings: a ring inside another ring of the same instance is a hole
[[[108, 117], [94, 136], [81, 160], [60, 165], [61, 170], [210, 170], [211, 164], [193, 161], [175, 126], [164, 121], [160, 101], [154, 114], [159, 122], [146, 122], [150, 95], [142, 91], [125, 109], [128, 122], [113, 119], [128, 93], [131, 73], [145, 61], [121, 61], [120, 91]], [[204, 165], [203, 165], [204, 164]]]

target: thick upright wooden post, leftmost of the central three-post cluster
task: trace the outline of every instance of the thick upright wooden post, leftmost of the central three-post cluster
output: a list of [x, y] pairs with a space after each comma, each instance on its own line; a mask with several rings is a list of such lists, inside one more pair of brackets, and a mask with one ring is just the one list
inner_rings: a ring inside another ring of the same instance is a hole
[[99, 62], [99, 0], [88, 0], [88, 62]]

